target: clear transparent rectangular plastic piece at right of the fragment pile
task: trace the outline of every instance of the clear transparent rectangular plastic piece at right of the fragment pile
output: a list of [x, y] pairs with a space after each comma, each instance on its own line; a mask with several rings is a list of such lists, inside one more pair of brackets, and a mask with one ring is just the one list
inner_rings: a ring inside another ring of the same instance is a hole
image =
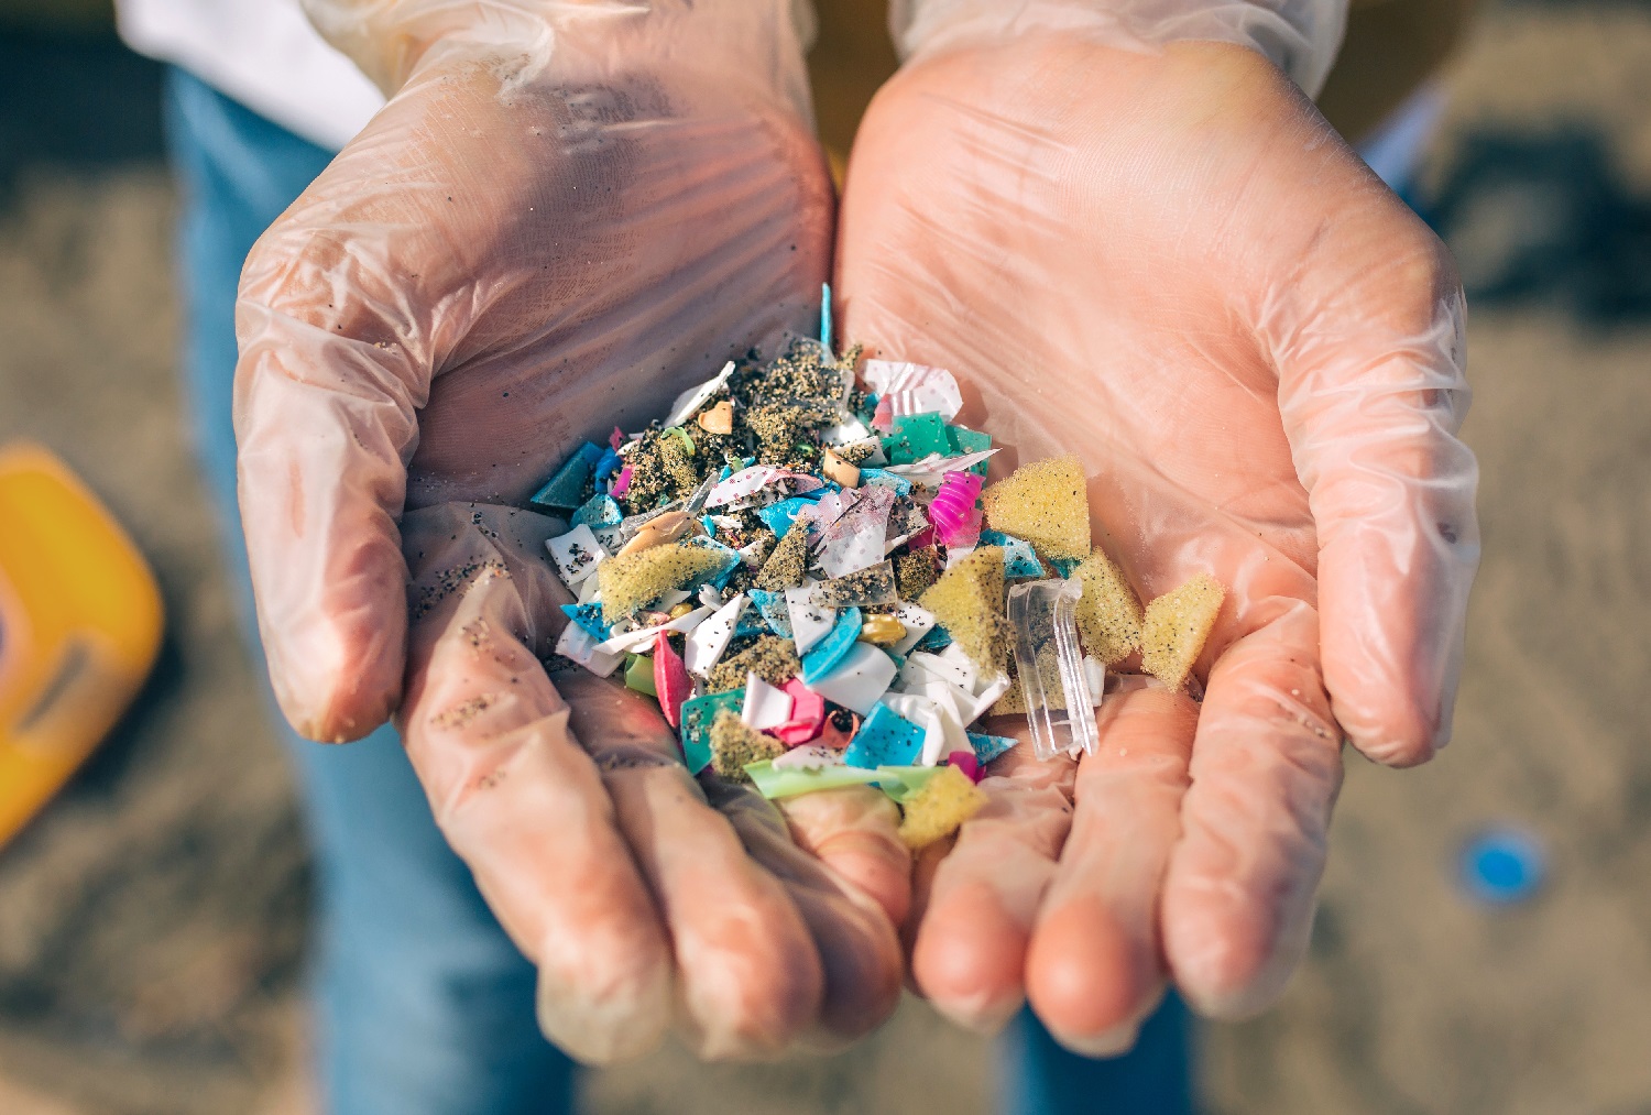
[[1095, 704], [1078, 646], [1078, 598], [1083, 581], [1025, 581], [1009, 588], [1015, 674], [1032, 725], [1032, 752], [1055, 758], [1098, 742]]

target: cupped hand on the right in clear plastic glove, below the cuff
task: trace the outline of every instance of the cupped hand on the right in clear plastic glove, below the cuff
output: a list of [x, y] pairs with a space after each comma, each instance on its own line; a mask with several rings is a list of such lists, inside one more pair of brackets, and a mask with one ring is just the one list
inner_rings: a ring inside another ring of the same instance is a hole
[[1035, 33], [883, 89], [837, 291], [845, 335], [959, 375], [959, 418], [1012, 446], [994, 474], [1083, 458], [1142, 600], [1230, 590], [1202, 707], [1114, 699], [1076, 770], [982, 783], [920, 866], [915, 983], [981, 1027], [1027, 996], [1090, 1052], [1167, 978], [1260, 1009], [1308, 940], [1344, 733], [1408, 765], [1450, 732], [1478, 529], [1443, 246], [1260, 55]]

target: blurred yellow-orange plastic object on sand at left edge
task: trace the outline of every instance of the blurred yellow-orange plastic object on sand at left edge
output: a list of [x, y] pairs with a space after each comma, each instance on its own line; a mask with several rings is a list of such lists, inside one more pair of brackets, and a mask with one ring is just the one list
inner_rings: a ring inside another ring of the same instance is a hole
[[144, 557], [48, 451], [0, 449], [0, 846], [69, 780], [160, 649]]

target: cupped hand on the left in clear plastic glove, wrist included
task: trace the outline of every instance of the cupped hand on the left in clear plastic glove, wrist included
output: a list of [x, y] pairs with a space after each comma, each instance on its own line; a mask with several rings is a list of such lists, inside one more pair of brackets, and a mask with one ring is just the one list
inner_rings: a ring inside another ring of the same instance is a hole
[[[555, 527], [502, 509], [580, 441], [812, 327], [830, 185], [788, 5], [340, 12], [378, 20], [357, 45], [398, 45], [373, 68], [391, 89], [411, 76], [258, 243], [238, 309], [241, 507], [282, 707], [320, 740], [401, 709], [575, 1056], [641, 1052], [674, 1019], [703, 1056], [863, 1032], [898, 991], [893, 809], [817, 804], [806, 852], [748, 793], [708, 804], [644, 699], [546, 677]], [[438, 15], [426, 43], [411, 17]]]

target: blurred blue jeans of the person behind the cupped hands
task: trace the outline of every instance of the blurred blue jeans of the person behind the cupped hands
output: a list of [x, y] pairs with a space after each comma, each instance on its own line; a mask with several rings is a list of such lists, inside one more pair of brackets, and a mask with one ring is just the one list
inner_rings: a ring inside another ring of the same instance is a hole
[[[173, 69], [167, 135], [183, 192], [178, 259], [195, 443], [256, 631], [234, 496], [234, 291], [253, 241], [322, 172], [315, 147]], [[253, 639], [254, 661], [261, 652]], [[395, 732], [322, 747], [276, 717], [302, 781], [315, 847], [322, 1094], [332, 1115], [556, 1115], [573, 1065], [533, 1022], [533, 968], [431, 819]], [[1185, 1011], [1174, 999], [1116, 1060], [1053, 1044], [1022, 1013], [1001, 1044], [1012, 1115], [1190, 1112]]]

